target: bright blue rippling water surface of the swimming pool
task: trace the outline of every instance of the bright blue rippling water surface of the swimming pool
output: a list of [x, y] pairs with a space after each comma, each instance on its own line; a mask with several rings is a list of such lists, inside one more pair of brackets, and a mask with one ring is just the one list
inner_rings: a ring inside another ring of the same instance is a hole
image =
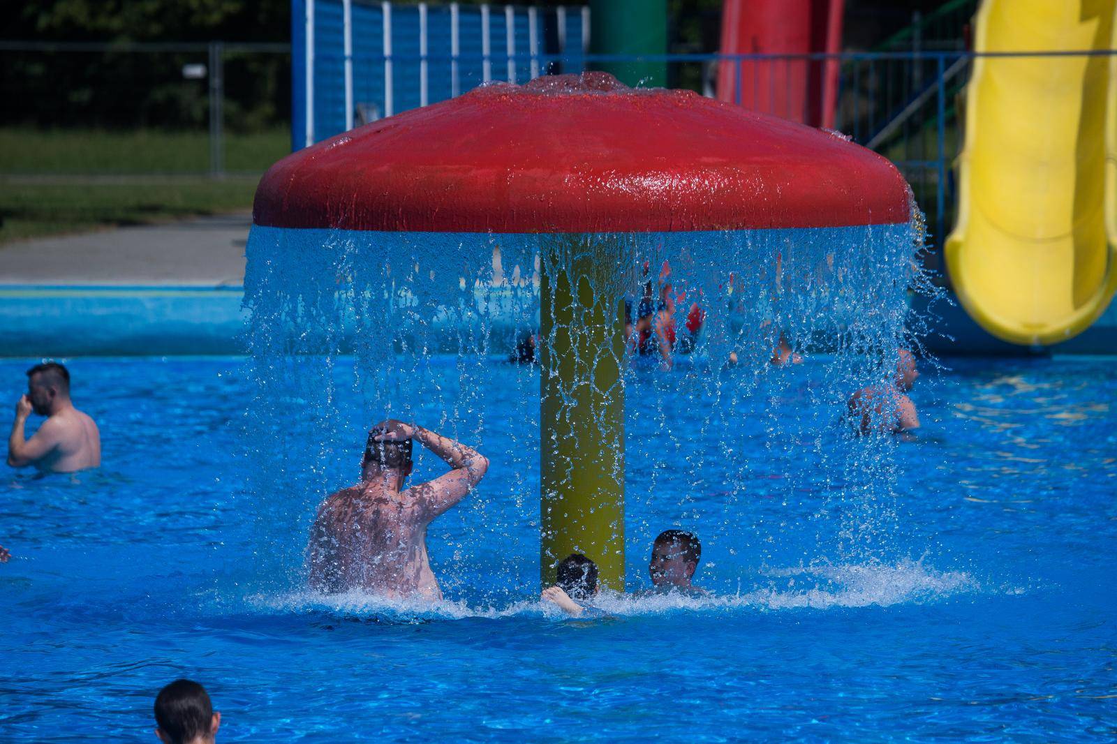
[[[29, 363], [0, 362], [9, 400]], [[1117, 736], [1117, 360], [925, 368], [920, 440], [884, 450], [889, 498], [850, 495], [839, 456], [858, 445], [837, 427], [764, 423], [810, 408], [815, 360], [722, 421], [733, 452], [689, 426], [716, 401], [672, 393], [685, 368], [638, 371], [629, 583], [647, 586], [650, 537], [684, 525], [715, 595], [610, 601], [595, 622], [535, 603], [537, 412], [516, 406], [538, 381], [485, 363], [479, 425], [458, 433], [493, 467], [431, 530], [451, 601], [418, 611], [298, 585], [299, 525], [353, 479], [376, 413], [350, 410], [355, 393], [334, 392], [336, 426], [293, 414], [286, 449], [261, 451], [244, 360], [74, 361], [104, 467], [0, 481], [0, 740], [153, 741], [154, 694], [179, 676], [209, 688], [220, 741]], [[454, 428], [451, 388], [420, 422]], [[252, 479], [269, 467], [284, 477]]]

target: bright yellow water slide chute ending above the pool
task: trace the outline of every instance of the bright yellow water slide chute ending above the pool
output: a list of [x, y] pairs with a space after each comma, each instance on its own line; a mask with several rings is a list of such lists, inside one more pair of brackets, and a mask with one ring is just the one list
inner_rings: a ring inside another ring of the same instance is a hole
[[[1117, 47], [1117, 0], [985, 0], [978, 53]], [[983, 57], [966, 94], [946, 263], [990, 333], [1052, 344], [1117, 289], [1117, 57]]]

